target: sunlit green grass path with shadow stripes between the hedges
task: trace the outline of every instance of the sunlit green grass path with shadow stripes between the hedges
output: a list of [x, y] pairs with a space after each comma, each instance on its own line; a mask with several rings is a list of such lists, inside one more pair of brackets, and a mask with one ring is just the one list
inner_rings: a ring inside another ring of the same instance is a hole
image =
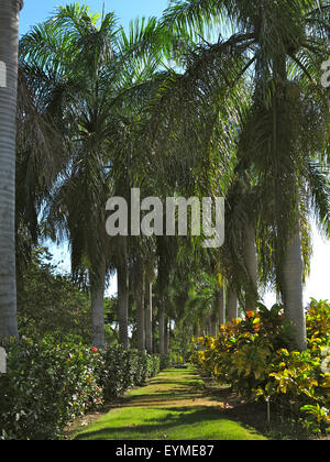
[[207, 396], [194, 367], [167, 370], [127, 394], [121, 406], [76, 433], [76, 440], [264, 440], [228, 419], [226, 405]]

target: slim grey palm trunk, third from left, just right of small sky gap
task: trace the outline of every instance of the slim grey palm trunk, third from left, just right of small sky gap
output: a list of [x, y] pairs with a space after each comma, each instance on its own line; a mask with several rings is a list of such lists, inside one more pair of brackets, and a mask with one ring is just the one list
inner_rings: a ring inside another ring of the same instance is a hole
[[118, 320], [119, 343], [129, 349], [129, 268], [128, 268], [128, 243], [122, 239], [121, 262], [118, 266]]

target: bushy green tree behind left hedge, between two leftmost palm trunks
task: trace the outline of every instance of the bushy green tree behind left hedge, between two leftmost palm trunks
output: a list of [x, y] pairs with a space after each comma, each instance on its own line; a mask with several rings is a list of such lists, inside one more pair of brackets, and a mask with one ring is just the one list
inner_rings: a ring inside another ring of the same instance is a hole
[[35, 248], [19, 277], [18, 319], [22, 337], [90, 343], [90, 297]]

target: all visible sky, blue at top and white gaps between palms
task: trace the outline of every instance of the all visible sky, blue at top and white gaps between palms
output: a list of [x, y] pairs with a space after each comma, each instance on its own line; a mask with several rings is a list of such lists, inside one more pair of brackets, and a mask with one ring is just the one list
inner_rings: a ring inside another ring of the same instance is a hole
[[[21, 34], [29, 31], [37, 22], [48, 19], [56, 7], [70, 3], [70, 0], [25, 0], [24, 9], [21, 13]], [[86, 0], [80, 3], [89, 4], [92, 12], [102, 12], [103, 6], [106, 12], [114, 11], [121, 24], [127, 28], [129, 22], [136, 16], [160, 16], [167, 7], [167, 0]], [[317, 299], [330, 300], [330, 242], [319, 234], [316, 227], [312, 228], [314, 256], [311, 261], [311, 275], [307, 280], [305, 288], [305, 304], [310, 297]], [[54, 262], [62, 262], [63, 271], [69, 272], [69, 253], [65, 246], [57, 248], [51, 245], [51, 252], [54, 254]], [[117, 280], [113, 278], [109, 294], [117, 292]], [[265, 296], [266, 305], [274, 301], [273, 294]]]

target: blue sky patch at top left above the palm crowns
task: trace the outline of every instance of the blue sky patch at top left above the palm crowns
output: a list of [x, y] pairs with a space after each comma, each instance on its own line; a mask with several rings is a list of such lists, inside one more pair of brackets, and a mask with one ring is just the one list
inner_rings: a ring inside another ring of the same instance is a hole
[[[56, 7], [74, 3], [70, 0], [24, 0], [21, 12], [21, 33], [25, 33], [37, 22], [48, 19]], [[120, 23], [127, 28], [130, 20], [138, 16], [160, 16], [167, 7], [167, 0], [88, 0], [86, 3], [94, 13], [113, 11]]]

